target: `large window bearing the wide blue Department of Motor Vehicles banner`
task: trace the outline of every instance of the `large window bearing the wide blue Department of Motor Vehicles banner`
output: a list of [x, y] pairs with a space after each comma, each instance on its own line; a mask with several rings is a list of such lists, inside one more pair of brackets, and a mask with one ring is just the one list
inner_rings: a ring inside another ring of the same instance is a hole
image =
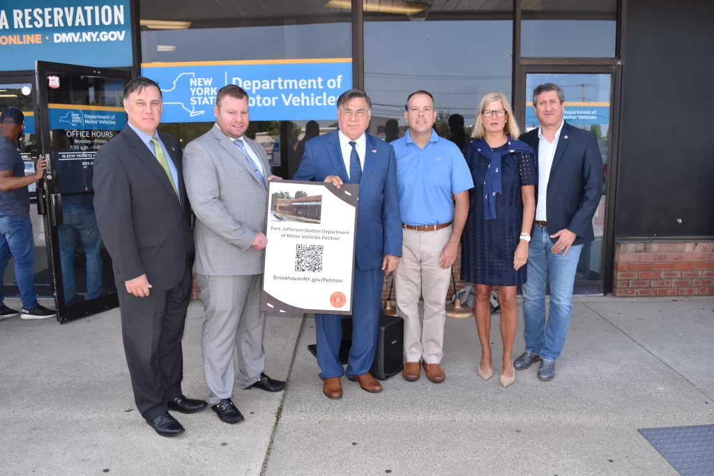
[[353, 86], [351, 3], [326, 3], [139, 1], [142, 74], [164, 94], [160, 129], [185, 146], [213, 126], [218, 89], [238, 84], [250, 96], [246, 135], [273, 173], [293, 176], [305, 141], [333, 130], [336, 98]]

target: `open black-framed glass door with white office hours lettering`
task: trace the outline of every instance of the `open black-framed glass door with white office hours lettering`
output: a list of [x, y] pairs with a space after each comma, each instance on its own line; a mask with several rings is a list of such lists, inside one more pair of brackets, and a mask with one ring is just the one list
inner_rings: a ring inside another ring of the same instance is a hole
[[116, 308], [111, 258], [94, 216], [94, 155], [126, 125], [130, 71], [37, 61], [40, 151], [48, 159], [44, 208], [57, 319]]

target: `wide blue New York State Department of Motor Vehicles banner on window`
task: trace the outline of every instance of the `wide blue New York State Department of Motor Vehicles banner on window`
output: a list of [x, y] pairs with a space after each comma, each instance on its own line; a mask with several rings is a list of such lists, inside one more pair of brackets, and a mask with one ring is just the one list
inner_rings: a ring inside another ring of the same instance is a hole
[[251, 121], [309, 121], [337, 117], [337, 98], [352, 87], [351, 59], [149, 63], [141, 74], [159, 83], [161, 122], [215, 121], [218, 89], [241, 86]]

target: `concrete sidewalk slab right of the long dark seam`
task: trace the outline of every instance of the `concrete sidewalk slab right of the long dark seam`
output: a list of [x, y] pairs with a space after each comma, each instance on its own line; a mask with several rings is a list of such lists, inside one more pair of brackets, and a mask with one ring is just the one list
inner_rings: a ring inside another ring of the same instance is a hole
[[676, 475], [637, 430], [714, 423], [714, 299], [576, 301], [555, 380], [536, 365], [505, 389], [498, 315], [491, 380], [473, 319], [447, 320], [444, 383], [343, 379], [341, 400], [321, 393], [306, 321], [266, 474]]

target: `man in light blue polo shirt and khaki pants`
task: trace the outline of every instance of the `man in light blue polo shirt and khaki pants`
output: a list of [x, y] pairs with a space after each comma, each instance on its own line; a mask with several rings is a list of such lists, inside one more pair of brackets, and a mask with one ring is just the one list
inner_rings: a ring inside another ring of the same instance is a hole
[[[446, 294], [473, 180], [458, 146], [432, 130], [436, 110], [430, 93], [412, 93], [404, 118], [409, 129], [392, 142], [403, 228], [402, 259], [394, 277], [397, 313], [404, 319], [406, 365], [402, 376], [418, 380], [423, 360], [426, 377], [439, 383], [446, 378], [441, 368]], [[420, 295], [424, 300], [423, 332]]]

